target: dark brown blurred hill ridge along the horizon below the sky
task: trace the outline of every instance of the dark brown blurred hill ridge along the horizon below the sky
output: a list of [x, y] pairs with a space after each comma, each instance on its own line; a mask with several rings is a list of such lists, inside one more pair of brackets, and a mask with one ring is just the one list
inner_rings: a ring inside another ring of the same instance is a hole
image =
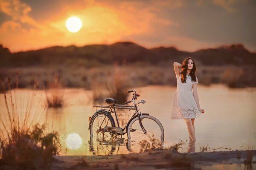
[[0, 45], [0, 65], [3, 67], [68, 65], [76, 62], [87, 62], [91, 66], [115, 62], [147, 62], [155, 65], [167, 61], [181, 62], [186, 57], [192, 57], [204, 65], [256, 65], [256, 53], [248, 51], [241, 44], [186, 52], [174, 47], [147, 49], [134, 42], [116, 42], [111, 45], [83, 47], [53, 46], [17, 53], [11, 53], [8, 48]]

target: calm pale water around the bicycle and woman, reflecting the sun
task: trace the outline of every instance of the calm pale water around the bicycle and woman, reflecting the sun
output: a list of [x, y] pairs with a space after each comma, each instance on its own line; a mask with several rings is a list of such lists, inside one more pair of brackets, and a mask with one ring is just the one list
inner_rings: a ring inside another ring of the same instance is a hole
[[[191, 143], [186, 124], [183, 120], [172, 120], [172, 102], [176, 88], [169, 86], [148, 86], [135, 88], [146, 100], [140, 105], [143, 113], [150, 113], [163, 125], [165, 138], [163, 147], [169, 147], [185, 141], [180, 152], [199, 152], [212, 150], [247, 150], [256, 146], [256, 88], [229, 89], [224, 85], [202, 86], [198, 85], [198, 96], [201, 108], [205, 113], [195, 119], [195, 132], [197, 140]], [[31, 95], [30, 90], [18, 90], [16, 98], [24, 108]], [[64, 95], [65, 105], [59, 109], [43, 111], [45, 92], [36, 91], [35, 103], [39, 106], [32, 108], [33, 115], [40, 115], [40, 122], [47, 123], [47, 131], [57, 131], [61, 139], [61, 155], [108, 155], [140, 152], [138, 141], [124, 139], [116, 141], [91, 141], [88, 130], [88, 119], [96, 111], [90, 102], [91, 91], [83, 89], [66, 89]], [[40, 101], [39, 101], [40, 99]], [[0, 112], [6, 114], [3, 94], [0, 94]], [[129, 112], [119, 111], [121, 125], [128, 121]], [[114, 115], [113, 115], [114, 116]], [[35, 120], [35, 119], [34, 119]], [[227, 148], [227, 149], [225, 149]]]

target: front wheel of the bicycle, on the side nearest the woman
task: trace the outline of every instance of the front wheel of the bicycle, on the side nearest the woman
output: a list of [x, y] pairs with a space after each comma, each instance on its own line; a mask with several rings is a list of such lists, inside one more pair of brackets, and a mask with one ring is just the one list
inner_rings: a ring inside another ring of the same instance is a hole
[[[141, 120], [146, 133], [143, 132], [139, 119]], [[150, 140], [152, 138], [163, 139], [163, 125], [153, 116], [143, 115], [143, 119], [135, 117], [128, 125], [127, 136], [133, 141]]]

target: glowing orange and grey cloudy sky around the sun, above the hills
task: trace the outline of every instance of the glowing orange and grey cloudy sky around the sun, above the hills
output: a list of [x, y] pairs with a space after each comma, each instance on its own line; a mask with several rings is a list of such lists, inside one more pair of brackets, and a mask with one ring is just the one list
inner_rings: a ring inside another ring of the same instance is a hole
[[[242, 43], [256, 51], [253, 0], [0, 0], [0, 44], [10, 51], [133, 41], [180, 50]], [[77, 33], [65, 27], [76, 16]]]

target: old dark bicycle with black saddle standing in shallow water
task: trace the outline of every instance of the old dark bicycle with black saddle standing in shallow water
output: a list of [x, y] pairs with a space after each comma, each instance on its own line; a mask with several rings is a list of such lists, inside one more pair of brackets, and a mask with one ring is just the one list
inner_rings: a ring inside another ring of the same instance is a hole
[[[108, 106], [98, 106], [94, 105], [96, 112], [89, 118], [89, 130], [90, 136], [93, 138], [93, 135], [97, 135], [97, 140], [104, 139], [105, 136], [108, 136], [105, 133], [111, 134], [113, 136], [121, 136], [127, 133], [128, 139], [137, 140], [145, 139], [145, 137], [154, 137], [155, 139], [160, 139], [163, 141], [164, 130], [163, 125], [153, 116], [149, 116], [148, 113], [141, 113], [139, 105], [145, 104], [145, 100], [137, 102], [137, 97], [140, 94], [137, 94], [135, 90], [127, 91], [127, 93], [134, 92], [133, 97], [130, 101], [125, 102], [125, 105], [115, 104], [116, 99], [107, 98], [105, 103], [110, 104]], [[133, 105], [127, 105], [128, 103], [133, 102]], [[102, 108], [97, 111], [97, 108]], [[109, 109], [106, 109], [109, 108]], [[125, 127], [121, 128], [119, 126], [119, 121], [116, 115], [116, 109], [127, 109], [134, 110], [135, 113], [131, 116], [128, 123]], [[111, 113], [115, 113], [116, 123], [113, 119]]]

